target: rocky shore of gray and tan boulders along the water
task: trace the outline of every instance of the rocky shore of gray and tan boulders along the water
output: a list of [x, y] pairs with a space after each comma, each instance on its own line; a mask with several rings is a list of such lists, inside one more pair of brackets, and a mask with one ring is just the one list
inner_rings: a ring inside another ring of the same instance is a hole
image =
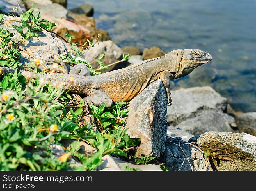
[[[3, 7], [2, 12], [5, 14], [13, 12], [13, 8], [17, 7], [15, 0], [0, 2], [4, 5], [0, 4], [0, 7]], [[100, 54], [106, 55], [102, 60], [105, 65], [119, 61], [122, 54], [131, 55], [127, 62], [102, 72], [165, 54], [157, 46], [143, 51], [133, 46], [118, 47], [106, 31], [95, 27], [93, 8], [90, 5], [67, 10], [66, 1], [18, 2], [23, 12], [29, 8], [34, 9], [35, 12], [40, 11], [40, 17], [57, 23], [53, 31], [62, 36], [70, 33], [74, 36], [73, 42], [83, 43], [87, 39], [94, 41], [101, 34], [99, 44], [82, 54], [82, 59], [89, 63]], [[17, 8], [14, 14], [21, 14], [20, 9]], [[15, 30], [12, 32], [15, 33]], [[42, 59], [57, 59], [57, 55], [74, 53], [63, 40], [49, 32], [41, 33], [44, 35], [23, 43], [22, 48]], [[27, 54], [22, 56], [21, 62], [32, 61]], [[99, 67], [97, 63], [93, 63], [93, 66]], [[173, 104], [167, 107], [165, 88], [162, 81], [157, 80], [130, 101], [128, 117], [123, 119], [126, 122], [123, 128], [128, 129], [127, 134], [131, 138], [141, 138], [141, 144], [132, 151], [134, 155], [153, 156], [154, 160], [146, 165], [136, 165], [122, 158], [106, 155], [96, 170], [125, 170], [124, 165], [141, 170], [161, 170], [161, 164], [173, 171], [256, 170], [256, 112], [234, 111], [227, 98], [210, 86], [172, 89], [171, 98]], [[87, 116], [86, 119], [88, 117], [93, 119], [93, 116]], [[63, 142], [63, 145], [68, 145], [69, 141]], [[81, 153], [91, 154], [95, 150], [84, 142], [81, 144], [84, 145], [84, 149], [79, 151]], [[59, 147], [54, 150], [56, 155], [62, 152]], [[207, 150], [211, 154], [205, 158]]]

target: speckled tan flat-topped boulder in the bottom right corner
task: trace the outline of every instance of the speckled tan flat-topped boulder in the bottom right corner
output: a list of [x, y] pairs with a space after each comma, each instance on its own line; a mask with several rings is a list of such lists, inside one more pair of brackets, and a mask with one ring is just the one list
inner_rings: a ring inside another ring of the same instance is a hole
[[236, 166], [238, 170], [256, 170], [255, 136], [247, 133], [207, 132], [201, 134], [197, 144], [200, 149], [208, 149], [214, 152], [215, 157], [219, 157], [212, 159], [216, 170], [237, 170]]

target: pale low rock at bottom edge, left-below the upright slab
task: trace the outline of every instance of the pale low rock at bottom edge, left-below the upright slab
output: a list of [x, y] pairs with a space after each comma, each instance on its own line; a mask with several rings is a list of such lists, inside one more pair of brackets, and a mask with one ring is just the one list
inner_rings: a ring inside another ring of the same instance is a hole
[[102, 161], [103, 163], [99, 166], [97, 166], [97, 168], [95, 170], [101, 170], [101, 171], [106, 171], [106, 170], [125, 170], [124, 166], [129, 166], [131, 168], [139, 168], [140, 170], [154, 170], [154, 171], [158, 171], [161, 170], [161, 168], [157, 165], [154, 164], [146, 164], [146, 165], [136, 165], [135, 163], [131, 163], [131, 162], [124, 162], [118, 158], [112, 157], [110, 155], [105, 155], [104, 157], [102, 157]]

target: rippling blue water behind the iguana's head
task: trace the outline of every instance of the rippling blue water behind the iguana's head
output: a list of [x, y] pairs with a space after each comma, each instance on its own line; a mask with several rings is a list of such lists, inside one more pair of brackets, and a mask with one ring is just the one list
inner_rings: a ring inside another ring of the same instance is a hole
[[256, 111], [255, 0], [74, 0], [67, 8], [83, 3], [93, 6], [96, 27], [121, 48], [209, 52], [211, 62], [172, 87], [211, 86], [236, 111]]

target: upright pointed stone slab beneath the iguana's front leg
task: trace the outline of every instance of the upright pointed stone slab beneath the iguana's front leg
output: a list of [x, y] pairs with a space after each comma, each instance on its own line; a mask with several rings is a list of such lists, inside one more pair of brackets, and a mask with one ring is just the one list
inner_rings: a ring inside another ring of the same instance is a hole
[[166, 140], [167, 97], [162, 81], [151, 83], [137, 97], [130, 101], [125, 128], [131, 138], [141, 138], [135, 156], [159, 158], [164, 152]]

